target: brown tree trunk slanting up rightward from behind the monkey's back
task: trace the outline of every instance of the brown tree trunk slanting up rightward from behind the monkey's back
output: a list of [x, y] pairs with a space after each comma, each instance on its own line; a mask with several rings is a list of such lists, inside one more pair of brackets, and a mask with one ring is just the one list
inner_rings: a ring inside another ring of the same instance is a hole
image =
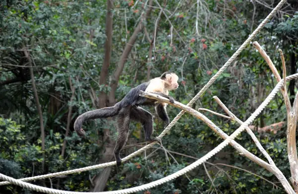
[[135, 28], [135, 31], [134, 31], [133, 35], [130, 37], [128, 43], [126, 44], [126, 46], [125, 46], [125, 48], [124, 48], [124, 50], [121, 54], [120, 60], [118, 62], [118, 68], [116, 69], [116, 71], [115, 71], [115, 73], [112, 77], [111, 92], [109, 94], [109, 103], [110, 104], [115, 104], [116, 103], [115, 93], [116, 93], [116, 89], [117, 89], [117, 86], [118, 86], [120, 75], [123, 71], [124, 64], [127, 61], [128, 55], [130, 54], [135, 42], [137, 41], [138, 34], [142, 31], [143, 21], [147, 19], [147, 17], [149, 16], [149, 14], [151, 12], [152, 1], [153, 0], [149, 1], [149, 6], [147, 6], [147, 11], [146, 11], [145, 16], [144, 15], [141, 16], [141, 20], [140, 20], [138, 26]]

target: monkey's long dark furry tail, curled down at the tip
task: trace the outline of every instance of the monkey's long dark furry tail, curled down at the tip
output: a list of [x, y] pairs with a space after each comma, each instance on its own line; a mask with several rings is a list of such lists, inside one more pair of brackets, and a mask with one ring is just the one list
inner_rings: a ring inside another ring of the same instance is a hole
[[118, 102], [114, 106], [104, 107], [96, 110], [90, 110], [79, 115], [74, 122], [74, 130], [79, 136], [85, 136], [85, 131], [82, 129], [83, 122], [90, 119], [107, 118], [118, 114], [121, 109], [121, 104]]

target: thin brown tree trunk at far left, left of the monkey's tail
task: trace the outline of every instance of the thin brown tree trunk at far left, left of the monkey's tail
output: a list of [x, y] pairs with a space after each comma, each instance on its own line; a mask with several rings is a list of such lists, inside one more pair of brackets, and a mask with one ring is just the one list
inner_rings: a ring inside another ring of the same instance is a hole
[[28, 59], [29, 62], [29, 69], [30, 69], [30, 76], [31, 76], [31, 83], [32, 83], [32, 89], [34, 92], [34, 97], [35, 97], [35, 101], [36, 101], [36, 107], [37, 107], [37, 112], [39, 115], [39, 124], [40, 124], [40, 131], [41, 131], [41, 149], [43, 151], [42, 157], [43, 157], [43, 161], [42, 161], [42, 172], [45, 173], [45, 129], [44, 129], [44, 125], [43, 125], [43, 117], [42, 117], [42, 110], [40, 107], [40, 103], [39, 103], [39, 99], [38, 99], [38, 94], [37, 94], [37, 89], [36, 89], [36, 85], [35, 85], [35, 79], [34, 79], [34, 73], [33, 73], [33, 64], [31, 61], [31, 57], [29, 55], [29, 52], [27, 51], [27, 48], [24, 48], [24, 53], [26, 58]]

